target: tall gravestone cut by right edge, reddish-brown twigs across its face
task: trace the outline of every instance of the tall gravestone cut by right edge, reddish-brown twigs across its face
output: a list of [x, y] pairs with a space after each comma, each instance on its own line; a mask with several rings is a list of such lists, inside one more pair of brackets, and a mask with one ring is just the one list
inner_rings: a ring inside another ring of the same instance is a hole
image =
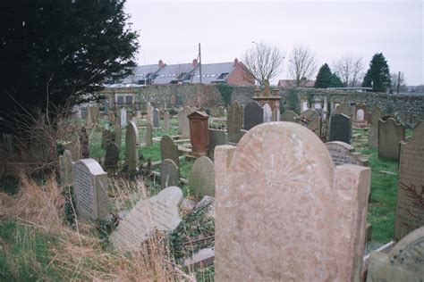
[[394, 240], [424, 226], [424, 123], [401, 145]]

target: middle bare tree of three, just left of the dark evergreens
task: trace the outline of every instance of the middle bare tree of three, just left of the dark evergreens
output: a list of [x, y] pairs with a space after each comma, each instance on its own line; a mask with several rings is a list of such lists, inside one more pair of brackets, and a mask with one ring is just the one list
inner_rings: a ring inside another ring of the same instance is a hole
[[289, 59], [289, 75], [294, 85], [305, 86], [313, 79], [317, 70], [317, 58], [306, 46], [294, 46]]

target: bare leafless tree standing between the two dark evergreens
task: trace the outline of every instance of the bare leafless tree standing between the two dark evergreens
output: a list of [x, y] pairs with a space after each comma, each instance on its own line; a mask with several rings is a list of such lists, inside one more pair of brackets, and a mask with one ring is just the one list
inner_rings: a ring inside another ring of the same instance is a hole
[[359, 87], [364, 75], [364, 63], [361, 56], [343, 54], [333, 63], [335, 73], [342, 79], [344, 87]]

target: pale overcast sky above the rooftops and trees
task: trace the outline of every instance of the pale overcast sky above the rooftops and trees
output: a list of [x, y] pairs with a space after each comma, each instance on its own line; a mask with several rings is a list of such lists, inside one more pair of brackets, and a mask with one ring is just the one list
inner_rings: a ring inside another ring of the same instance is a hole
[[[390, 72], [408, 85], [424, 84], [424, 5], [398, 1], [145, 1], [127, 0], [131, 29], [138, 30], [138, 64], [191, 62], [201, 44], [202, 63], [242, 61], [255, 42], [276, 46], [285, 59], [271, 82], [289, 79], [293, 46], [308, 46], [318, 67], [343, 54], [383, 53]], [[318, 71], [318, 70], [317, 70]]]

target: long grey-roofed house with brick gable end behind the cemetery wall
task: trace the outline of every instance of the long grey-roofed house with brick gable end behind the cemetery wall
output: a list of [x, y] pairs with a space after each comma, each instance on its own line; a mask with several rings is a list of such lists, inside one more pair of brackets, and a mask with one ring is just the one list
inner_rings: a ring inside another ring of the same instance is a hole
[[201, 65], [196, 59], [191, 63], [171, 65], [160, 60], [157, 65], [135, 67], [134, 74], [123, 79], [121, 84], [164, 85], [200, 82], [255, 85], [252, 74], [237, 58], [233, 62], [202, 63]]

